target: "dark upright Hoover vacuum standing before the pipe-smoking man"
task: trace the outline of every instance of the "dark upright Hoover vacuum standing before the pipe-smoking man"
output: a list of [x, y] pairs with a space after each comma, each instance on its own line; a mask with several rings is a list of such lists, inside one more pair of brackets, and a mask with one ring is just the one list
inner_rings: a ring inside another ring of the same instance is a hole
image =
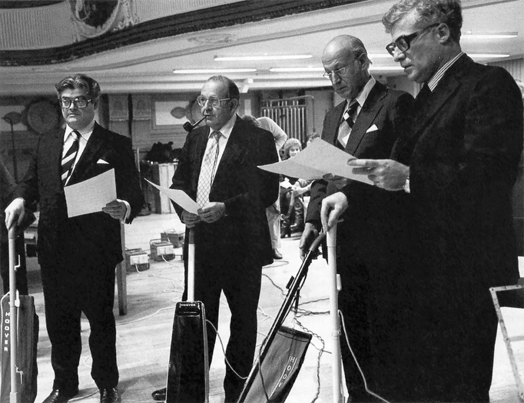
[[188, 256], [187, 301], [174, 310], [166, 403], [209, 402], [209, 352], [204, 304], [194, 301], [194, 230], [184, 242]]

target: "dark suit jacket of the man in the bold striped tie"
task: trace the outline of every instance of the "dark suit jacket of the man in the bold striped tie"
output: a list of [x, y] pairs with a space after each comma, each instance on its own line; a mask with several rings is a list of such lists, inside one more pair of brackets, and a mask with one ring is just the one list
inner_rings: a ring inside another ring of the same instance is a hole
[[[39, 203], [39, 263], [53, 265], [58, 256], [70, 253], [75, 258], [103, 257], [108, 264], [116, 265], [123, 259], [118, 220], [103, 212], [67, 216], [60, 179], [63, 135], [61, 131], [40, 137], [27, 173], [14, 192], [15, 198], [24, 198], [26, 206]], [[99, 160], [107, 164], [101, 164]], [[144, 204], [131, 141], [95, 123], [68, 185], [93, 178], [111, 168], [115, 169], [117, 198], [126, 200], [131, 206], [130, 222]]]

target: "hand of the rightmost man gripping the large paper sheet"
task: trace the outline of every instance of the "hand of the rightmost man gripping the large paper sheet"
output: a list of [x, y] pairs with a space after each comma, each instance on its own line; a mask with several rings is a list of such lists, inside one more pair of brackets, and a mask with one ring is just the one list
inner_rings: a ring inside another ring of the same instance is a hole
[[392, 159], [353, 159], [347, 161], [356, 175], [367, 175], [376, 187], [402, 190], [409, 177], [409, 167]]

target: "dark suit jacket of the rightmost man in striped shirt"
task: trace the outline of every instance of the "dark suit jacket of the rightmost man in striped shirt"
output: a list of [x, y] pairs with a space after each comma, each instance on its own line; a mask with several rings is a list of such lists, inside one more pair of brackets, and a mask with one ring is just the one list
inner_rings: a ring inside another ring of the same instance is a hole
[[432, 275], [482, 292], [516, 284], [511, 190], [522, 116], [521, 94], [509, 73], [466, 55], [428, 102], [417, 105], [410, 135], [399, 139], [392, 156], [410, 165], [413, 224]]

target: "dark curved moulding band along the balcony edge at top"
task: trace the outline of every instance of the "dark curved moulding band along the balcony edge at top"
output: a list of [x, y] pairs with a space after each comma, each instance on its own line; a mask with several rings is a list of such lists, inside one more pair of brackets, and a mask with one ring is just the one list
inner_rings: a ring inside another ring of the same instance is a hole
[[[115, 0], [116, 1], [116, 0]], [[118, 0], [118, 4], [132, 0]], [[50, 49], [0, 50], [0, 66], [37, 66], [63, 63], [84, 56], [149, 40], [167, 38], [206, 29], [247, 24], [264, 19], [278, 18], [365, 0], [247, 0], [210, 7], [194, 12], [162, 17], [144, 23], [122, 26], [116, 31], [100, 32], [72, 45]], [[108, 14], [108, 19], [112, 14]], [[133, 18], [132, 15], [129, 18]], [[230, 38], [234, 40], [234, 38]]]

